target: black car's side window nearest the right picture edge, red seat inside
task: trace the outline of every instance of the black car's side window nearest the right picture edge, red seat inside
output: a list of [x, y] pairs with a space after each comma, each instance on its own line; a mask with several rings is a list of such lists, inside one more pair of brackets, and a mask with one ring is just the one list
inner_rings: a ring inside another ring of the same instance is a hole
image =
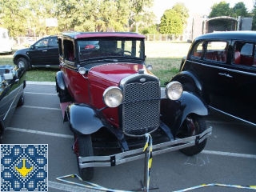
[[242, 66], [255, 66], [255, 44], [252, 42], [235, 42], [233, 63]]

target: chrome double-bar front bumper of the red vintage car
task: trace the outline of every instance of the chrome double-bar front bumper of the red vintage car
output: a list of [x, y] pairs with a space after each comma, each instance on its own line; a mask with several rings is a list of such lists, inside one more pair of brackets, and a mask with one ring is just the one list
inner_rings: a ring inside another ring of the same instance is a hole
[[[206, 138], [210, 137], [212, 128], [208, 128], [202, 134], [194, 135], [188, 138], [179, 138], [170, 142], [163, 142], [153, 146], [153, 155], [164, 154], [174, 150], [181, 150], [183, 148], [194, 146]], [[102, 166], [116, 166], [126, 162], [132, 162], [140, 158], [144, 158], [145, 154], [143, 148], [136, 150], [128, 150], [118, 154], [111, 154], [107, 156], [90, 156], [78, 157], [80, 168], [86, 167], [102, 167]]]

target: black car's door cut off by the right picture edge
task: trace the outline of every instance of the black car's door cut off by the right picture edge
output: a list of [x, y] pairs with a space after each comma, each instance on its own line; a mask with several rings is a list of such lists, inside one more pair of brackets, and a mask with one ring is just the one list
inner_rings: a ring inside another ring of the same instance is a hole
[[234, 41], [233, 56], [228, 70], [230, 92], [226, 112], [256, 124], [256, 60], [254, 42]]

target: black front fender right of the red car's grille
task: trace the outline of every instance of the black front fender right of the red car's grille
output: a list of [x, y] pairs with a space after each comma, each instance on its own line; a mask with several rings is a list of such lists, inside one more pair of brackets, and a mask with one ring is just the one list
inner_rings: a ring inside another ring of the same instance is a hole
[[165, 122], [174, 136], [189, 114], [206, 116], [208, 107], [197, 95], [184, 91], [177, 101], [164, 98], [161, 101], [161, 120]]

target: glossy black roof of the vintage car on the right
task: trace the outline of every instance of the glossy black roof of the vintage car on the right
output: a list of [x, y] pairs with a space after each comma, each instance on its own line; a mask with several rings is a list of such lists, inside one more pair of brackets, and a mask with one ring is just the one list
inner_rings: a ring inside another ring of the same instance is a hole
[[194, 41], [202, 39], [238, 39], [238, 40], [254, 40], [256, 39], [256, 31], [252, 30], [239, 30], [239, 31], [223, 31], [213, 32], [209, 34], [202, 34], [194, 39]]

